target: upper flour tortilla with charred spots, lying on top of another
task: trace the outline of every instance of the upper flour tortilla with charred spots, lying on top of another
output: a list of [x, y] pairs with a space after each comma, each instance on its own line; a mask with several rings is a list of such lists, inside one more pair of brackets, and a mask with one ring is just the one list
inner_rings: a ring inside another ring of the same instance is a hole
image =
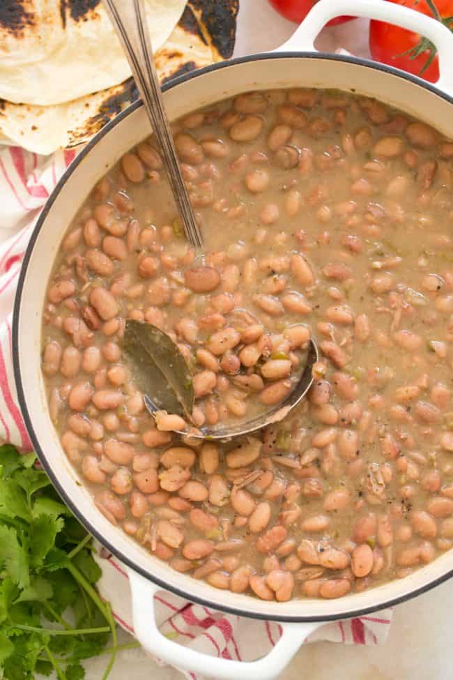
[[[167, 40], [184, 6], [185, 0], [145, 0], [154, 50]], [[1, 98], [61, 104], [128, 76], [128, 62], [101, 0], [1, 0]]]

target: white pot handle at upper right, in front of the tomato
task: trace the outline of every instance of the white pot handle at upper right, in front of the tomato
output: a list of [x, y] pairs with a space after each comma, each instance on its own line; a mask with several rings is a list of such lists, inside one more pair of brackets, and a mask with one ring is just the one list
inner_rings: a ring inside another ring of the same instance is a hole
[[436, 45], [440, 78], [436, 86], [453, 95], [453, 36], [446, 26], [420, 12], [385, 0], [320, 0], [291, 38], [275, 52], [316, 52], [314, 41], [331, 19], [340, 15], [365, 17], [420, 33]]

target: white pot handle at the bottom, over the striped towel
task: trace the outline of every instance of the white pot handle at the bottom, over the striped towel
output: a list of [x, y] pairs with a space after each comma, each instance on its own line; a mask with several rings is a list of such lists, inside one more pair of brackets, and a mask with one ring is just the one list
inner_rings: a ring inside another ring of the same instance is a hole
[[128, 569], [132, 591], [134, 631], [146, 651], [161, 660], [219, 680], [271, 680], [282, 672], [309, 633], [323, 623], [281, 624], [282, 637], [275, 647], [256, 661], [233, 661], [183, 647], [160, 633], [155, 623], [154, 595], [162, 588]]

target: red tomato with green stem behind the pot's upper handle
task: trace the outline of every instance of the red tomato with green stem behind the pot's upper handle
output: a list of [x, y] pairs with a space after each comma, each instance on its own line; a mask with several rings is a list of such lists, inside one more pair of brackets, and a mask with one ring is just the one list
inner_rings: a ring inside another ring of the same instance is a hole
[[[453, 29], [453, 0], [389, 0], [442, 21]], [[436, 47], [419, 35], [392, 24], [372, 21], [369, 29], [369, 49], [376, 61], [396, 66], [424, 80], [436, 82], [439, 64]]]

